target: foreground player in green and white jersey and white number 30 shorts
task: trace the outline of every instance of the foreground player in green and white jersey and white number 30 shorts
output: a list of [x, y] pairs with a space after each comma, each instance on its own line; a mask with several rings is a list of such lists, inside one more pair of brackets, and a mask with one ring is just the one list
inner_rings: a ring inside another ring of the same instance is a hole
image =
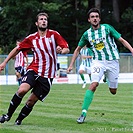
[[133, 56], [133, 48], [121, 36], [121, 34], [109, 24], [100, 24], [100, 20], [100, 11], [97, 8], [90, 9], [88, 12], [88, 22], [91, 24], [91, 27], [82, 35], [67, 69], [67, 72], [72, 70], [73, 64], [79, 55], [80, 50], [87, 44], [87, 47], [93, 51], [91, 67], [92, 83], [85, 93], [82, 104], [82, 113], [77, 119], [78, 123], [84, 122], [94, 92], [105, 72], [108, 79], [109, 90], [113, 95], [116, 94], [119, 75], [119, 53], [114, 40], [121, 42], [131, 51]]

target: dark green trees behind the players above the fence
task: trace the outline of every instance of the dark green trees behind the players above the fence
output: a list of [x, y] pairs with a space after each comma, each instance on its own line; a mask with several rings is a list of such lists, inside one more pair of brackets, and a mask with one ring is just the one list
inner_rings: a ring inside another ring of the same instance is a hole
[[[89, 28], [87, 11], [101, 10], [101, 23], [114, 26], [122, 37], [133, 42], [132, 0], [1, 0], [0, 54], [8, 54], [18, 38], [37, 31], [35, 18], [44, 11], [49, 14], [49, 28], [57, 30], [69, 43], [71, 53], [85, 30]], [[129, 52], [118, 44], [120, 52]]]

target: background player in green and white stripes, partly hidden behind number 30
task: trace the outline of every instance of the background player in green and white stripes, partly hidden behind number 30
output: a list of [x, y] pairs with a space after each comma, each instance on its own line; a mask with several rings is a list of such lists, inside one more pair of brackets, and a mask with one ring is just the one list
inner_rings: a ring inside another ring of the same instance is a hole
[[91, 81], [91, 63], [92, 63], [92, 52], [86, 45], [80, 51], [81, 64], [79, 66], [79, 75], [83, 81], [82, 88], [86, 87], [86, 80], [84, 72], [87, 72]]

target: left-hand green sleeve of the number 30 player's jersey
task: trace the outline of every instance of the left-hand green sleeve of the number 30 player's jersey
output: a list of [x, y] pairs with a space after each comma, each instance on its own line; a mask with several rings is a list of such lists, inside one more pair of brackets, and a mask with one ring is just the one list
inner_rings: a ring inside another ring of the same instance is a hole
[[81, 48], [84, 47], [85, 45], [89, 46], [87, 31], [84, 32], [84, 34], [81, 36], [79, 43], [78, 43], [78, 46], [80, 46]]

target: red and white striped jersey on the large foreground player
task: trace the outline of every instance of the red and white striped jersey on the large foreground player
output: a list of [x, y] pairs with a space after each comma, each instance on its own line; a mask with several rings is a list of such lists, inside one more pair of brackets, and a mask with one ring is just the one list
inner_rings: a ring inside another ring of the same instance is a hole
[[46, 36], [38, 32], [26, 37], [18, 46], [21, 51], [33, 51], [33, 61], [27, 70], [34, 70], [39, 76], [54, 78], [57, 69], [56, 46], [68, 48], [64, 38], [54, 30], [47, 29]]

